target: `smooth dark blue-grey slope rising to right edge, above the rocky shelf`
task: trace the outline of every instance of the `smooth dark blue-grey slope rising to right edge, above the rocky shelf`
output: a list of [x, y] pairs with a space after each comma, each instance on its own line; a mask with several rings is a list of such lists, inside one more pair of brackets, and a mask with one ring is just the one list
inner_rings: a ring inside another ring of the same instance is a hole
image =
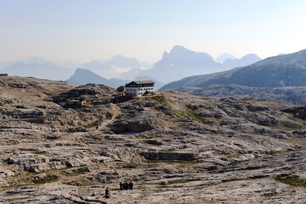
[[[233, 68], [221, 73], [191, 76], [163, 86], [181, 88], [206, 87], [220, 84], [236, 84], [252, 87], [306, 86], [306, 50], [282, 56], [265, 58], [249, 66]], [[196, 80], [195, 80], [196, 78]], [[189, 83], [186, 83], [189, 81]]]

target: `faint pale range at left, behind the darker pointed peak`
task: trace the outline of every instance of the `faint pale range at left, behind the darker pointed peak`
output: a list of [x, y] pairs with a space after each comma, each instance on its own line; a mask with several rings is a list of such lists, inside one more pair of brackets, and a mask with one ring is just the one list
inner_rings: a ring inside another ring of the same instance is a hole
[[[84, 64], [73, 63], [73, 61], [65, 61], [65, 63], [51, 62], [38, 56], [17, 61], [0, 62], [2, 73], [51, 80], [66, 80], [73, 75], [76, 68], [88, 69], [104, 78], [119, 78], [121, 73], [130, 71], [130, 69], [141, 71], [142, 69], [151, 68], [151, 65], [146, 62], [139, 63], [136, 58], [125, 58], [120, 55], [114, 56], [110, 60], [93, 60]], [[129, 76], [129, 74], [125, 74], [125, 76]], [[134, 79], [136, 73], [131, 72], [130, 76], [132, 77], [121, 79]]]

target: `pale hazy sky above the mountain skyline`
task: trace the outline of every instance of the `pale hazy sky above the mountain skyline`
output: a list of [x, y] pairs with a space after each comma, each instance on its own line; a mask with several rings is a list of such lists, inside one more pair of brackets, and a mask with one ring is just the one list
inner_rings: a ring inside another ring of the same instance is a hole
[[154, 63], [175, 45], [213, 58], [306, 49], [306, 1], [0, 0], [0, 61]]

